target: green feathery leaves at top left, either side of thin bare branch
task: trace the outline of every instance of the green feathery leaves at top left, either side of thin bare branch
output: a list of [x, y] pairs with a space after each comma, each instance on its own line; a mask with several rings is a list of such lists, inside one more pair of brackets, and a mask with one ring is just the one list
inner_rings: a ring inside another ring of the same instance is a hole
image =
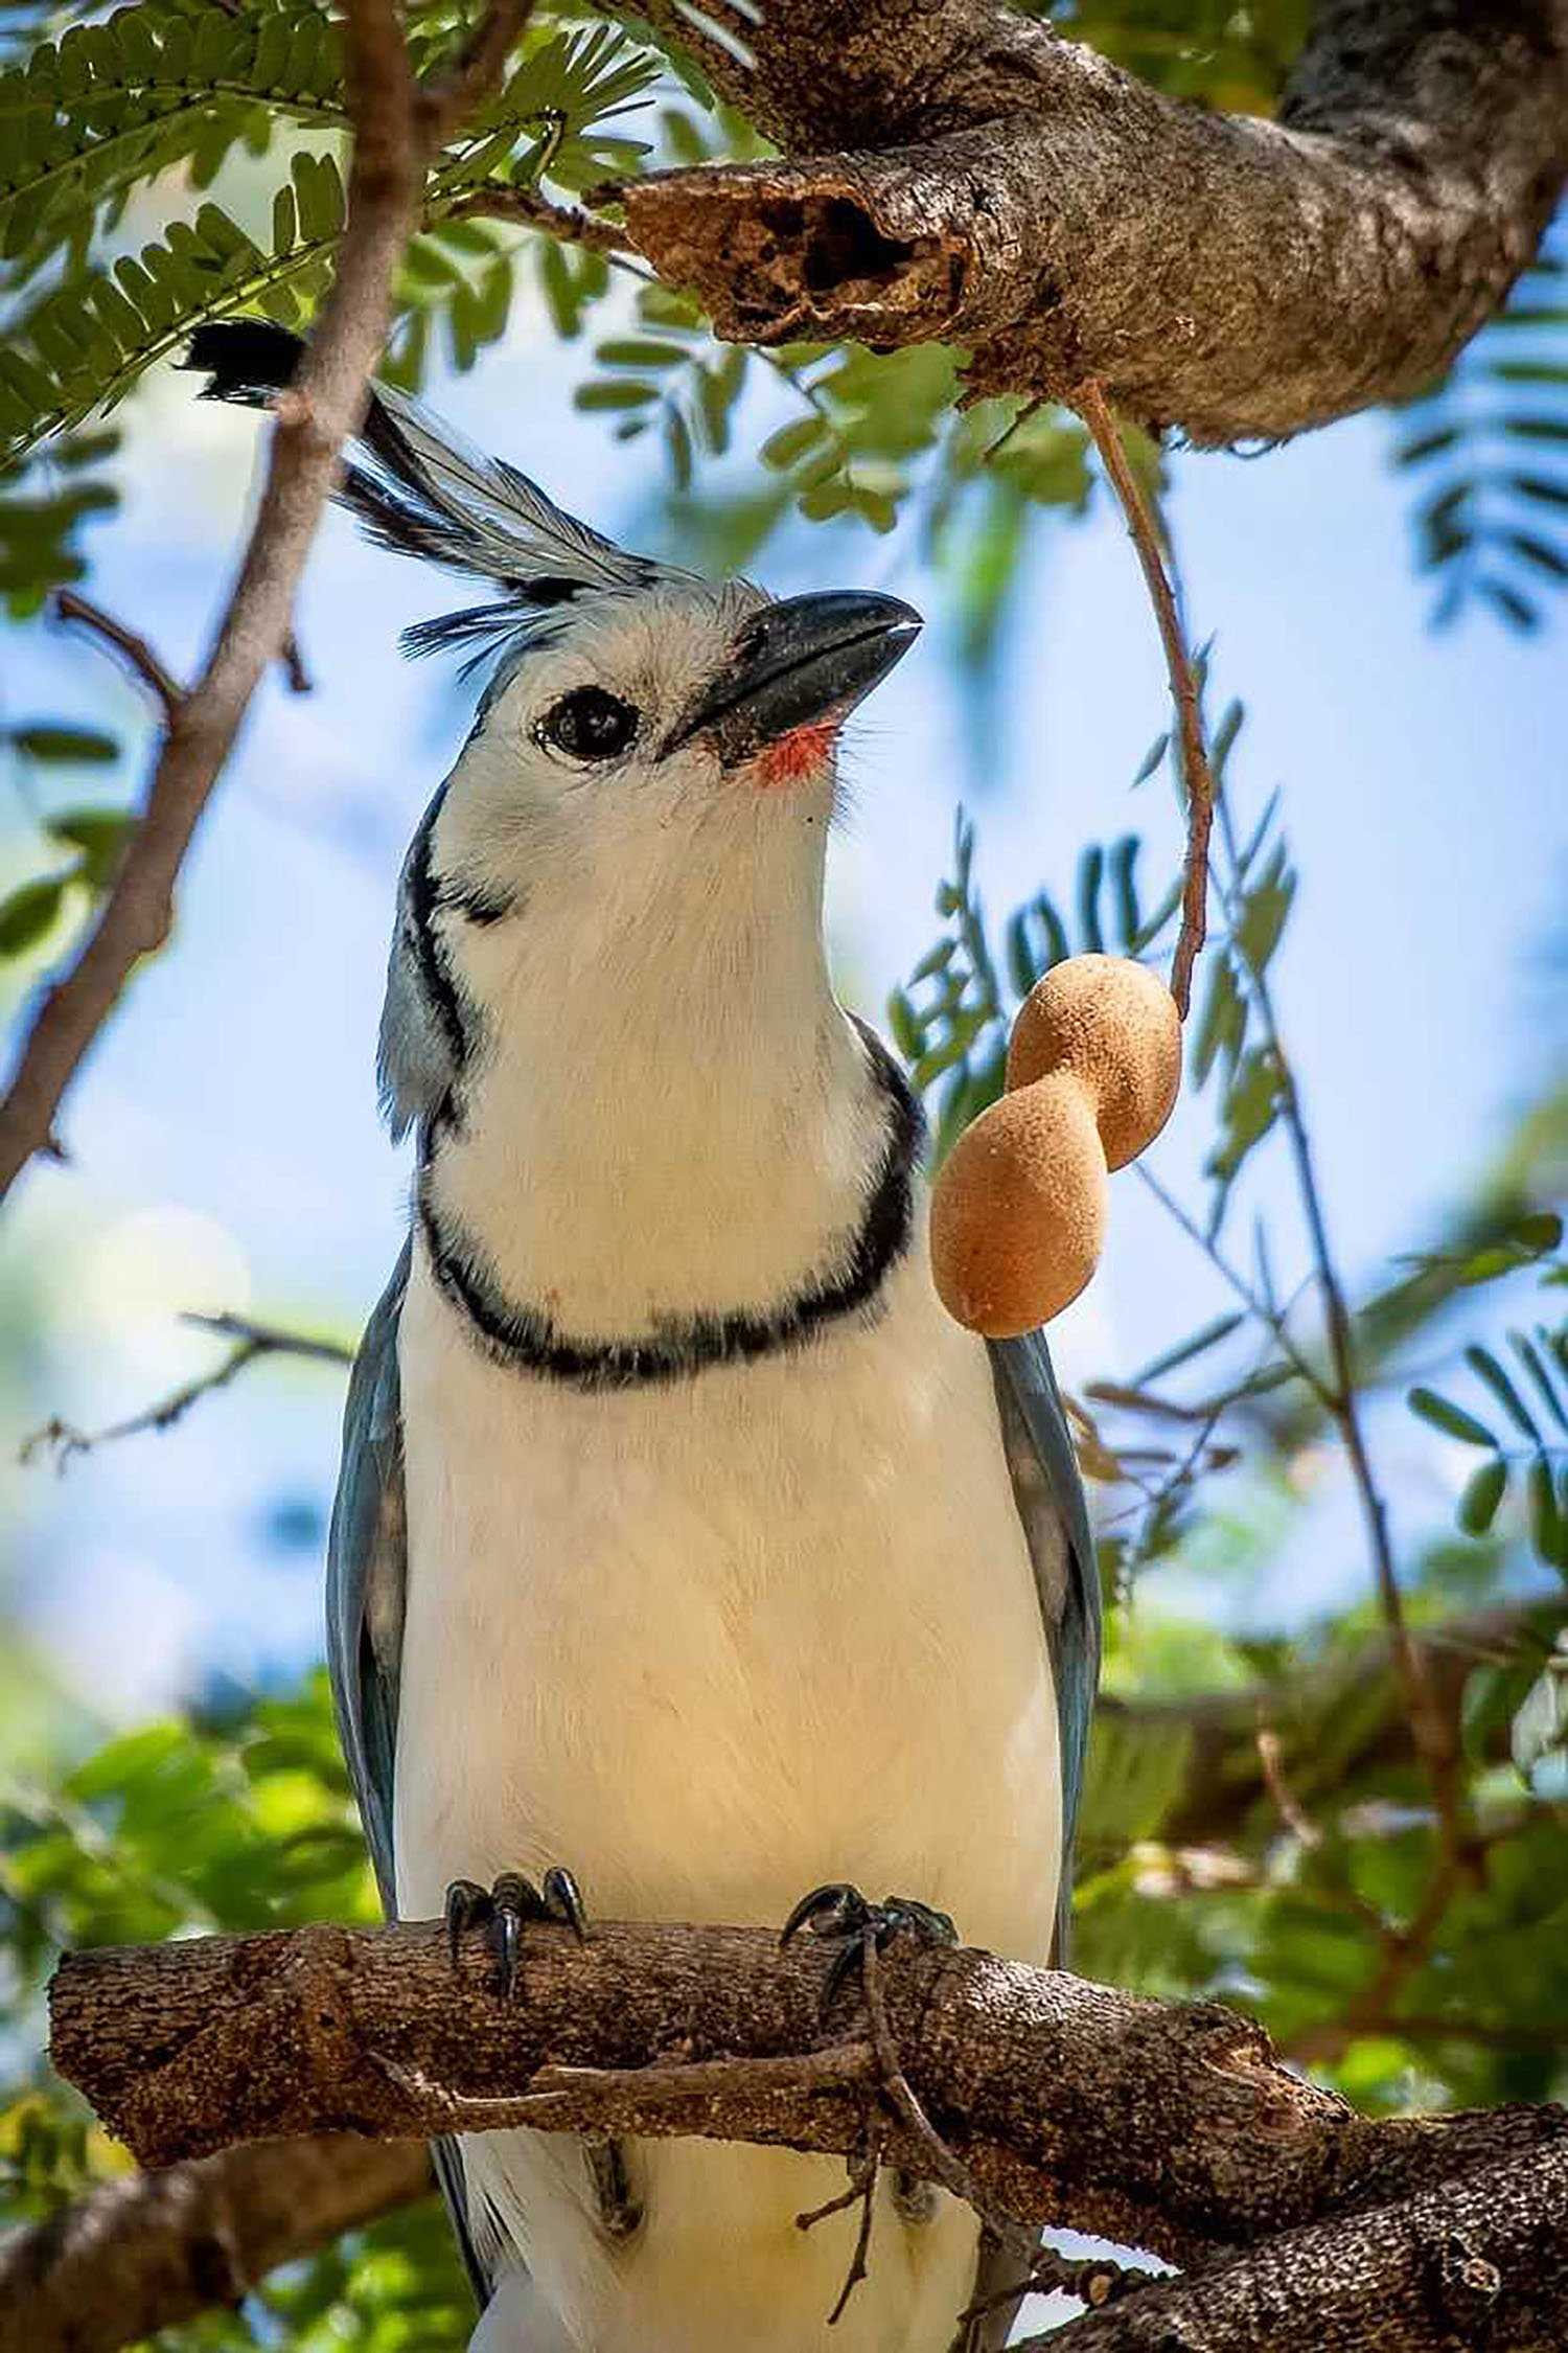
[[[397, 282], [388, 372], [400, 384], [418, 384], [435, 318], [447, 320], [458, 365], [470, 365], [510, 315], [515, 238], [451, 219], [454, 209], [480, 188], [548, 179], [578, 193], [635, 167], [644, 151], [611, 125], [658, 71], [651, 52], [609, 26], [541, 33], [524, 49], [505, 87], [433, 165], [425, 233]], [[141, 252], [106, 249], [106, 238], [129, 188], [172, 162], [205, 188], [235, 141], [266, 148], [259, 127], [268, 122], [341, 125], [339, 80], [339, 38], [299, 0], [263, 0], [244, 21], [202, 9], [195, 26], [172, 0], [141, 0], [101, 26], [73, 26], [0, 78], [0, 120], [21, 125], [0, 214], [14, 266], [33, 275], [38, 252], [66, 254], [63, 273], [21, 301], [0, 351], [7, 456], [113, 409], [209, 318], [308, 322], [343, 233], [343, 176], [320, 139], [289, 158], [266, 233], [209, 198]]]

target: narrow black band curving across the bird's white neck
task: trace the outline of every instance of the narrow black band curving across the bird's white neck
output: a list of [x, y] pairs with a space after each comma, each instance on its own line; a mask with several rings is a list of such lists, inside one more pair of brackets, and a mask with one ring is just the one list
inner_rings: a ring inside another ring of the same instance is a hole
[[421, 1179], [418, 1224], [442, 1297], [465, 1315], [489, 1355], [520, 1372], [590, 1391], [686, 1381], [712, 1365], [778, 1355], [804, 1346], [825, 1325], [875, 1306], [889, 1271], [910, 1247], [914, 1162], [926, 1122], [889, 1049], [875, 1031], [856, 1026], [886, 1104], [886, 1132], [865, 1214], [842, 1254], [839, 1273], [806, 1282], [776, 1308], [668, 1315], [637, 1339], [571, 1339], [541, 1308], [517, 1306], [505, 1297], [475, 1245], [440, 1219]]

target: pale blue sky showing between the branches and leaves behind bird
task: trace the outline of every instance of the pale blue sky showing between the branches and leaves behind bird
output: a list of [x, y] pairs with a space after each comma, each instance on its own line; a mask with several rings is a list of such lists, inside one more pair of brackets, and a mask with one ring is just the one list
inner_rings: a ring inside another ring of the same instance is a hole
[[[522, 322], [433, 402], [635, 536], [651, 461], [571, 412], [581, 365]], [[254, 419], [190, 393], [165, 374], [125, 412], [132, 496], [94, 544], [92, 581], [179, 671], [233, 567], [259, 449]], [[741, 449], [780, 414], [764, 386]], [[1286, 793], [1302, 889], [1281, 1016], [1352, 1278], [1420, 1240], [1563, 1052], [1561, 965], [1556, 993], [1547, 969], [1568, 882], [1561, 631], [1530, 642], [1474, 619], [1434, 635], [1403, 496], [1380, 419], [1173, 468], [1194, 628], [1215, 633], [1218, 694], [1248, 704], [1239, 805]], [[1128, 779], [1164, 725], [1164, 673], [1103, 501], [1084, 525], [1039, 529], [980, 720], [912, 534], [799, 527], [762, 569], [778, 588], [896, 588], [931, 621], [849, 751], [830, 918], [865, 1009], [933, 936], [959, 798], [999, 908], [1041, 880], [1065, 889], [1091, 835], [1152, 828], [1159, 868], [1175, 812], [1161, 784], [1128, 800]], [[209, 1362], [181, 1308], [353, 1334], [374, 1301], [407, 1191], [371, 1078], [393, 885], [473, 704], [395, 654], [397, 628], [440, 600], [440, 584], [341, 518], [324, 529], [299, 614], [317, 689], [261, 692], [186, 868], [174, 946], [71, 1099], [73, 1165], [33, 1169], [0, 1240], [5, 1322], [26, 1334], [0, 1388], [16, 1435], [54, 1412], [115, 1419]], [[113, 718], [146, 739], [134, 689], [101, 654], [42, 628], [7, 642], [5, 708]], [[85, 784], [125, 793], [136, 774]], [[0, 807], [0, 873], [24, 873], [38, 864], [26, 779]], [[1187, 1198], [1201, 1141], [1185, 1111], [1157, 1151]], [[1281, 1191], [1265, 1198], [1286, 1214]], [[1107, 1264], [1058, 1353], [1070, 1377], [1126, 1374], [1213, 1304], [1197, 1254], [1124, 1179]], [[7, 1471], [12, 1598], [52, 1671], [134, 1715], [200, 1673], [306, 1657], [320, 1558], [280, 1544], [275, 1520], [280, 1499], [327, 1504], [339, 1409], [336, 1374], [263, 1367], [179, 1431], [63, 1480]], [[1458, 1466], [1441, 1445], [1401, 1417], [1385, 1447], [1406, 1525], [1443, 1515]], [[1347, 1551], [1342, 1577], [1356, 1574]]]

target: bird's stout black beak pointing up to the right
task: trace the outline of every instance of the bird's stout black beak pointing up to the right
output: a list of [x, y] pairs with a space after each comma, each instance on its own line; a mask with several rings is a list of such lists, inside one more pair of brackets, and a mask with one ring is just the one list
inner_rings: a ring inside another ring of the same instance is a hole
[[830, 588], [764, 605], [710, 687], [675, 722], [665, 751], [712, 736], [738, 767], [795, 727], [846, 718], [919, 635], [919, 614], [896, 595]]

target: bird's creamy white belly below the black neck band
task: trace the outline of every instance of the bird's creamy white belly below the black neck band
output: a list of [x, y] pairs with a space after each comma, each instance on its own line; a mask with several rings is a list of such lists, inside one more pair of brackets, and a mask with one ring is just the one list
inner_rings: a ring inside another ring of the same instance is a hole
[[[799, 1355], [578, 1395], [491, 1365], [418, 1254], [402, 1315], [409, 1598], [397, 1899], [569, 1864], [590, 1911], [778, 1922], [818, 1880], [1046, 1958], [1060, 1852], [1051, 1668], [980, 1341], [914, 1252], [889, 1313]], [[882, 2207], [832, 2337], [842, 2165], [665, 2141], [611, 2252], [581, 2153], [468, 2144], [583, 2353], [922, 2353], [973, 2221]]]

